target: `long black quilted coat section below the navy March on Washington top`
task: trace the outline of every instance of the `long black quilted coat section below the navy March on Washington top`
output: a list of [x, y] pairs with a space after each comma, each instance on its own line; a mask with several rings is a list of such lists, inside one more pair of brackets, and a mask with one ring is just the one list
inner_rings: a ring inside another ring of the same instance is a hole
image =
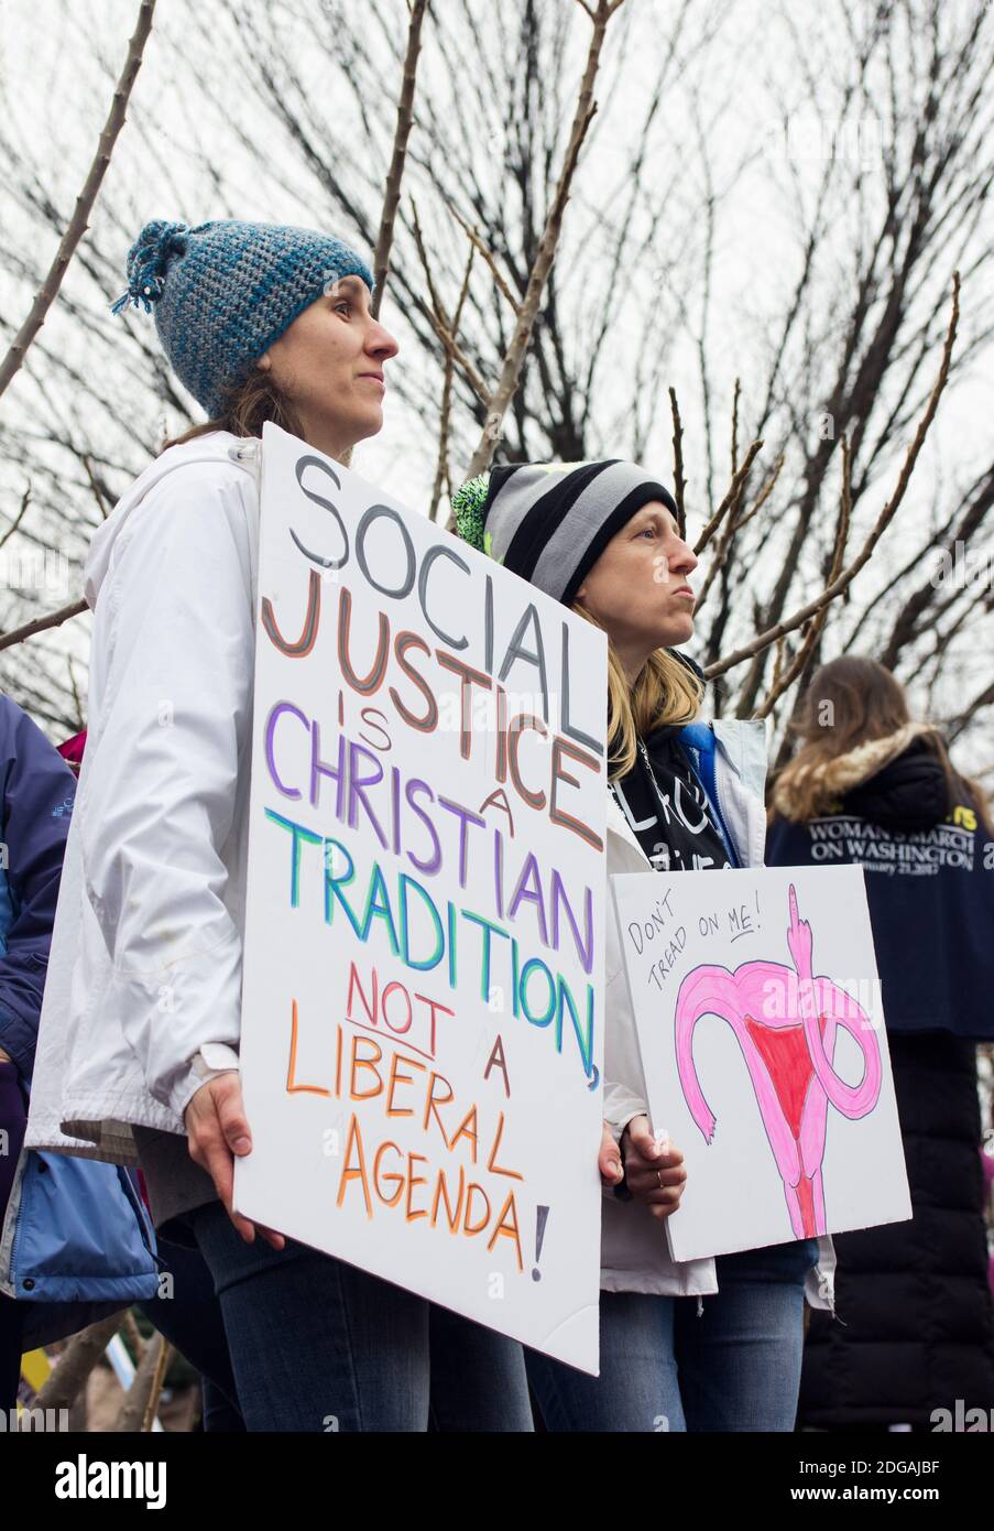
[[957, 1398], [994, 1407], [974, 1047], [898, 1033], [890, 1061], [913, 1219], [833, 1234], [838, 1317], [810, 1314], [798, 1425], [931, 1430]]

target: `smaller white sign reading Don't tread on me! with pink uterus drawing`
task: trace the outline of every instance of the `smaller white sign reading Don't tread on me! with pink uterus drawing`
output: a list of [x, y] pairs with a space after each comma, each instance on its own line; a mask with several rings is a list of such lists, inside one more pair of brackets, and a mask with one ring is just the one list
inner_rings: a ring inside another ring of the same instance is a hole
[[673, 1257], [908, 1219], [862, 870], [610, 880], [653, 1128], [685, 1157]]

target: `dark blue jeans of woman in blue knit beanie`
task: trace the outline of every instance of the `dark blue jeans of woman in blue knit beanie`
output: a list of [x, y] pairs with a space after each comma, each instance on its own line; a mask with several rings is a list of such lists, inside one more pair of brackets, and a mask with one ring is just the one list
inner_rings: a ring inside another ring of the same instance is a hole
[[248, 1430], [532, 1430], [517, 1341], [289, 1239], [248, 1245], [220, 1202], [188, 1223]]

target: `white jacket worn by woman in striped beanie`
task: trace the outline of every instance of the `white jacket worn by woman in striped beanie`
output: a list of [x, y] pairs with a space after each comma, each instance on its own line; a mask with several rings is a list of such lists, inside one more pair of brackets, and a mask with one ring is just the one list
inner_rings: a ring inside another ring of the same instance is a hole
[[[720, 811], [743, 867], [762, 867], [766, 845], [766, 726], [734, 720], [713, 724], [714, 770]], [[607, 798], [607, 871], [645, 873], [651, 865], [613, 793]], [[719, 874], [720, 876], [720, 874]], [[633, 1116], [648, 1115], [635, 1015], [625, 981], [621, 935], [613, 911], [607, 917], [607, 992], [604, 1001], [604, 1116], [619, 1138]], [[679, 1147], [679, 1144], [677, 1144]], [[818, 1240], [818, 1263], [804, 1295], [812, 1307], [833, 1307], [835, 1251]], [[639, 1202], [604, 1193], [601, 1223], [601, 1288], [607, 1292], [655, 1292], [703, 1297], [717, 1292], [714, 1260], [673, 1260], [662, 1225]]]

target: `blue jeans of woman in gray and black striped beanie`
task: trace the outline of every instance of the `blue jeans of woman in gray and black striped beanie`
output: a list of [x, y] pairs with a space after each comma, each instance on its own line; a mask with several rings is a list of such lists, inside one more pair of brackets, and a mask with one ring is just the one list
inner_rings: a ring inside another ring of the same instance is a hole
[[719, 1255], [719, 1291], [601, 1292], [601, 1375], [526, 1352], [551, 1431], [792, 1430], [815, 1239]]

